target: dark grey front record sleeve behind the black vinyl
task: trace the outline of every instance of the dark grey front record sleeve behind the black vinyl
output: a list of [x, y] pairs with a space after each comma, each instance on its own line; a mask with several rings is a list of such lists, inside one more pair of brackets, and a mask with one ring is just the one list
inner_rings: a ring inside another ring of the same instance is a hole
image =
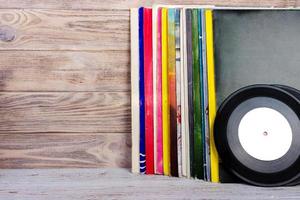
[[218, 105], [258, 83], [300, 89], [300, 11], [214, 11]]

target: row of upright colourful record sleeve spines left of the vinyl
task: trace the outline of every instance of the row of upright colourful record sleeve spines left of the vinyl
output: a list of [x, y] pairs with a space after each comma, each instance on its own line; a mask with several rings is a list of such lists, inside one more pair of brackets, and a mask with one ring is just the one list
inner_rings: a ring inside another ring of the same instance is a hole
[[212, 12], [131, 10], [133, 172], [219, 180]]

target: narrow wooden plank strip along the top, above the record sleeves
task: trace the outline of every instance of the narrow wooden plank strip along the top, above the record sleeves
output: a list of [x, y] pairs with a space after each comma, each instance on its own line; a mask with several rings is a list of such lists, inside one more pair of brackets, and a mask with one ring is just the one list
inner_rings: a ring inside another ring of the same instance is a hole
[[226, 6], [299, 6], [299, 0], [0, 0], [0, 8], [42, 9], [128, 9], [153, 4], [209, 4]]

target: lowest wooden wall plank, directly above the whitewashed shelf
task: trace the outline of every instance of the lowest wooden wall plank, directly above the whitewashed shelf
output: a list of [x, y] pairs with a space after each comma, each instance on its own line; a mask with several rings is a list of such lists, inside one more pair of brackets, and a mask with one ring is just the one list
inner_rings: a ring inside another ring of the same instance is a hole
[[130, 167], [130, 134], [3, 134], [0, 168]]

